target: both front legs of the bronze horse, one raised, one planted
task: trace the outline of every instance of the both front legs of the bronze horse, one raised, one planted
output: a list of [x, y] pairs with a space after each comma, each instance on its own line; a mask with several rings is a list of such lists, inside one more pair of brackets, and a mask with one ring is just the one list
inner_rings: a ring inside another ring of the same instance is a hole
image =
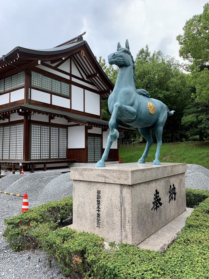
[[105, 147], [105, 151], [102, 155], [102, 158], [100, 161], [96, 163], [95, 167], [105, 167], [105, 160], [107, 160], [111, 145], [113, 141], [115, 141], [118, 136], [119, 132], [116, 130], [118, 127], [118, 124], [120, 122], [120, 119], [117, 119], [118, 113], [121, 113], [124, 116], [127, 116], [129, 119], [135, 119], [136, 118], [136, 110], [129, 106], [124, 106], [123, 104], [117, 102], [114, 104], [113, 112], [109, 121], [109, 128], [110, 133], [107, 138], [107, 145]]

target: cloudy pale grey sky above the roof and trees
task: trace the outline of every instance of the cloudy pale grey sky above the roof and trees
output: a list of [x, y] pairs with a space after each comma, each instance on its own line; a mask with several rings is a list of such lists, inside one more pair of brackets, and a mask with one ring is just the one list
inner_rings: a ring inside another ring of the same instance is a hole
[[135, 59], [148, 44], [180, 60], [178, 34], [207, 0], [1, 0], [0, 57], [16, 46], [44, 49], [86, 31], [94, 55], [116, 51], [128, 38]]

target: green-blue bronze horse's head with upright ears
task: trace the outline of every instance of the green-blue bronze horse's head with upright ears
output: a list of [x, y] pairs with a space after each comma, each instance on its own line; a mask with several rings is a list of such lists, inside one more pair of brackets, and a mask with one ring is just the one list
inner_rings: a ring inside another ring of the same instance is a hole
[[121, 47], [120, 42], [118, 42], [117, 51], [108, 55], [108, 62], [109, 64], [116, 66], [123, 67], [123, 66], [130, 66], [133, 62], [132, 55], [129, 50], [128, 40], [126, 39], [125, 47]]

